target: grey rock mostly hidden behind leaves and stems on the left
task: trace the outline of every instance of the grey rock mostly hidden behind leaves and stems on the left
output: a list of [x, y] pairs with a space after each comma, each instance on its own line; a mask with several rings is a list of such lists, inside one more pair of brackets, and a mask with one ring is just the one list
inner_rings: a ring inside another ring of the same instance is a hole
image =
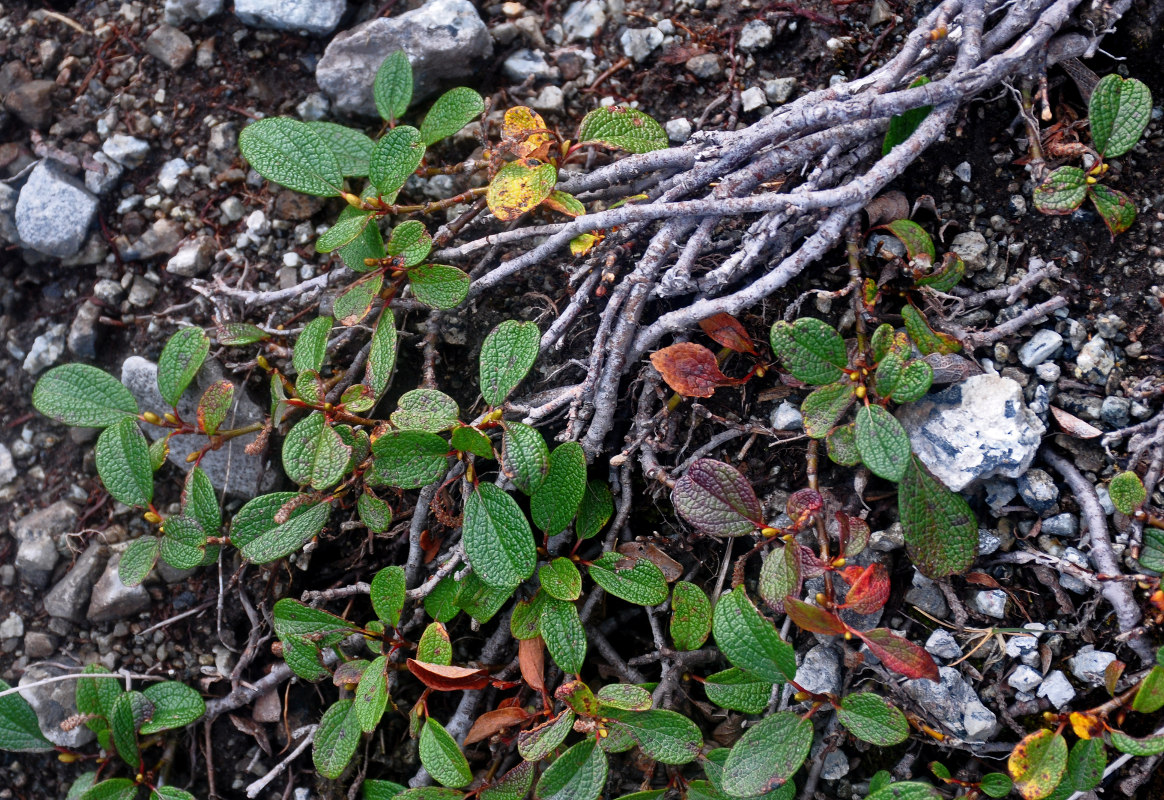
[[[197, 417], [198, 398], [211, 383], [222, 380], [222, 368], [218, 362], [208, 360], [194, 378], [193, 385], [186, 390], [178, 403], [178, 411], [184, 419]], [[125, 383], [142, 411], [157, 415], [169, 410], [157, 390], [157, 364], [140, 356], [126, 359], [121, 366], [121, 382]], [[263, 410], [241, 388], [236, 388], [235, 401], [227, 415], [228, 425], [242, 427], [265, 418]], [[155, 439], [164, 434], [162, 429], [149, 426], [147, 433]], [[258, 455], [248, 455], [246, 446], [255, 440], [256, 433], [232, 439], [221, 449], [211, 451], [201, 461], [201, 467], [215, 489], [226, 487], [227, 494], [236, 497], [255, 497], [260, 493], [263, 476], [263, 460]], [[201, 447], [198, 437], [175, 437], [170, 440], [170, 462], [183, 470], [189, 468], [186, 456]], [[229, 481], [227, 480], [229, 476]]]

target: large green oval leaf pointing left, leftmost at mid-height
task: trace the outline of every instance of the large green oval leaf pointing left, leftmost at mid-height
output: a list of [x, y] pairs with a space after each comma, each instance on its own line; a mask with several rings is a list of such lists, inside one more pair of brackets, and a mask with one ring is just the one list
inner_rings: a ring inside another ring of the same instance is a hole
[[133, 394], [108, 373], [83, 363], [54, 367], [33, 389], [33, 408], [65, 425], [107, 427], [137, 415]]

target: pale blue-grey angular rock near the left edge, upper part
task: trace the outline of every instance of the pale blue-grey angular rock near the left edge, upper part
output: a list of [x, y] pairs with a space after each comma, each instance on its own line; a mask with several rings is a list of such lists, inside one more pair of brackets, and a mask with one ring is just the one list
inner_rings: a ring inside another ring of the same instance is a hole
[[85, 242], [97, 198], [51, 161], [33, 168], [16, 200], [16, 233], [24, 247], [68, 259]]

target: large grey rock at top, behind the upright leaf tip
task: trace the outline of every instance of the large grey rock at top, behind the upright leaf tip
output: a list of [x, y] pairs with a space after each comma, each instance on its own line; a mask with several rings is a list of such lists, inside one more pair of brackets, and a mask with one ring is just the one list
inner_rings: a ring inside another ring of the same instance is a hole
[[442, 82], [473, 75], [492, 56], [494, 43], [469, 0], [430, 0], [416, 10], [338, 34], [315, 68], [315, 80], [336, 112], [376, 116], [371, 95], [376, 70], [385, 55], [402, 48], [412, 64], [416, 102]]

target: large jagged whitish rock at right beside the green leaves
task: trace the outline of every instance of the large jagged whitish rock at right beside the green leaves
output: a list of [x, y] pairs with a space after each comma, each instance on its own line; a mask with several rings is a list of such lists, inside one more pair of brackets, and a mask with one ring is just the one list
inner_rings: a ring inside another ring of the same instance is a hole
[[1022, 475], [1046, 430], [1023, 402], [1022, 387], [996, 375], [974, 375], [928, 395], [897, 418], [917, 458], [954, 491], [986, 477]]

